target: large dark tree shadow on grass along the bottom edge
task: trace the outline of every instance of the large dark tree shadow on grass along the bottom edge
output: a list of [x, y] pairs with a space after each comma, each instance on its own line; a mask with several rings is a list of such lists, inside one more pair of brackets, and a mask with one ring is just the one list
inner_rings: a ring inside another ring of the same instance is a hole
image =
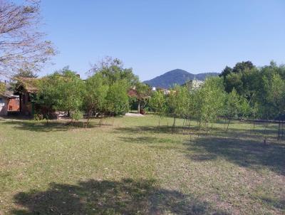
[[14, 196], [21, 209], [12, 214], [227, 214], [205, 201], [174, 190], [160, 189], [152, 180], [51, 183], [44, 192]]

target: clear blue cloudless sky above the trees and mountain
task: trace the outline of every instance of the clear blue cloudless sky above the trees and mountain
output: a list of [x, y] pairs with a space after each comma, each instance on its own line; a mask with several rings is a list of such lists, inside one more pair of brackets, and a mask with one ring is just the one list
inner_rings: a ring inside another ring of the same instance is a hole
[[55, 65], [83, 77], [105, 56], [140, 80], [175, 68], [221, 72], [225, 65], [285, 63], [285, 1], [42, 0]]

